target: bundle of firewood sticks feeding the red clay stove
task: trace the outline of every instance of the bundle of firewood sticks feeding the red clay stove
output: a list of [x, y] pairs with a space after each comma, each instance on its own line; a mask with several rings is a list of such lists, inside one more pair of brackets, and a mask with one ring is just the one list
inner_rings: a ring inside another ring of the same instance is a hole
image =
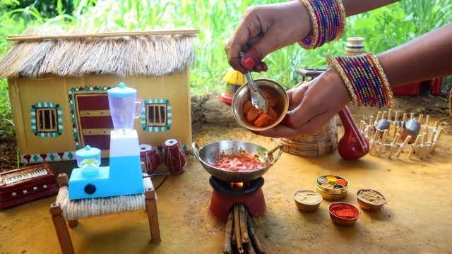
[[243, 204], [235, 204], [227, 217], [223, 253], [231, 254], [232, 246], [239, 253], [265, 254], [254, 232], [251, 216]]

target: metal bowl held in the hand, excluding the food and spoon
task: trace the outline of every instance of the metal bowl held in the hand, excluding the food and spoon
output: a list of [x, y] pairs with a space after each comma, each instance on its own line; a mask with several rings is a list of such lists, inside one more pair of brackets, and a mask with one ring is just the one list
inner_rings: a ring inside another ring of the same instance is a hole
[[276, 111], [278, 111], [278, 119], [270, 125], [263, 127], [256, 127], [246, 121], [243, 114], [243, 106], [246, 99], [249, 98], [249, 85], [247, 83], [239, 87], [239, 89], [234, 93], [234, 97], [232, 98], [232, 114], [234, 115], [237, 123], [241, 126], [251, 131], [264, 131], [275, 127], [278, 123], [283, 121], [284, 116], [289, 109], [289, 98], [287, 97], [285, 88], [273, 80], [262, 78], [256, 79], [254, 82], [261, 90], [269, 90], [270, 92], [275, 93], [275, 95], [279, 98], [278, 109], [276, 109]]

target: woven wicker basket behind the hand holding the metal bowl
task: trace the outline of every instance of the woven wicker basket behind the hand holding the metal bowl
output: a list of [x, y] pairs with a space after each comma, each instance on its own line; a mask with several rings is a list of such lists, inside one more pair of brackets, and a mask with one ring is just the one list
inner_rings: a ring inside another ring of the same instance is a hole
[[299, 135], [295, 138], [278, 138], [284, 152], [300, 157], [320, 157], [333, 153], [338, 147], [338, 126], [335, 117], [316, 135]]

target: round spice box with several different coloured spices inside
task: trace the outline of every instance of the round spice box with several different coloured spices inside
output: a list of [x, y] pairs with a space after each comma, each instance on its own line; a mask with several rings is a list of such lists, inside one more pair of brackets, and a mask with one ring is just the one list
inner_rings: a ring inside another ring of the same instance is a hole
[[[331, 181], [335, 179], [334, 181]], [[342, 184], [338, 184], [337, 182]], [[333, 184], [331, 184], [333, 183]], [[343, 200], [347, 198], [349, 183], [346, 179], [340, 176], [326, 175], [319, 176], [316, 180], [316, 192], [319, 193], [324, 200]]]

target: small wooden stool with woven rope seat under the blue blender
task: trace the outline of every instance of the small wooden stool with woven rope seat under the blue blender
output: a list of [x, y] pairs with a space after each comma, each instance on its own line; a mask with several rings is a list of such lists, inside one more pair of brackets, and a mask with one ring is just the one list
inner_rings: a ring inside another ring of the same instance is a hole
[[57, 201], [50, 205], [50, 214], [52, 214], [59, 245], [64, 254], [75, 253], [65, 221], [68, 222], [69, 227], [73, 227], [78, 225], [78, 219], [134, 210], [146, 210], [149, 220], [150, 242], [159, 243], [161, 241], [157, 217], [157, 196], [149, 178], [143, 179], [144, 194], [82, 200], [69, 200], [69, 179], [66, 174], [59, 174], [57, 182], [60, 188]]

